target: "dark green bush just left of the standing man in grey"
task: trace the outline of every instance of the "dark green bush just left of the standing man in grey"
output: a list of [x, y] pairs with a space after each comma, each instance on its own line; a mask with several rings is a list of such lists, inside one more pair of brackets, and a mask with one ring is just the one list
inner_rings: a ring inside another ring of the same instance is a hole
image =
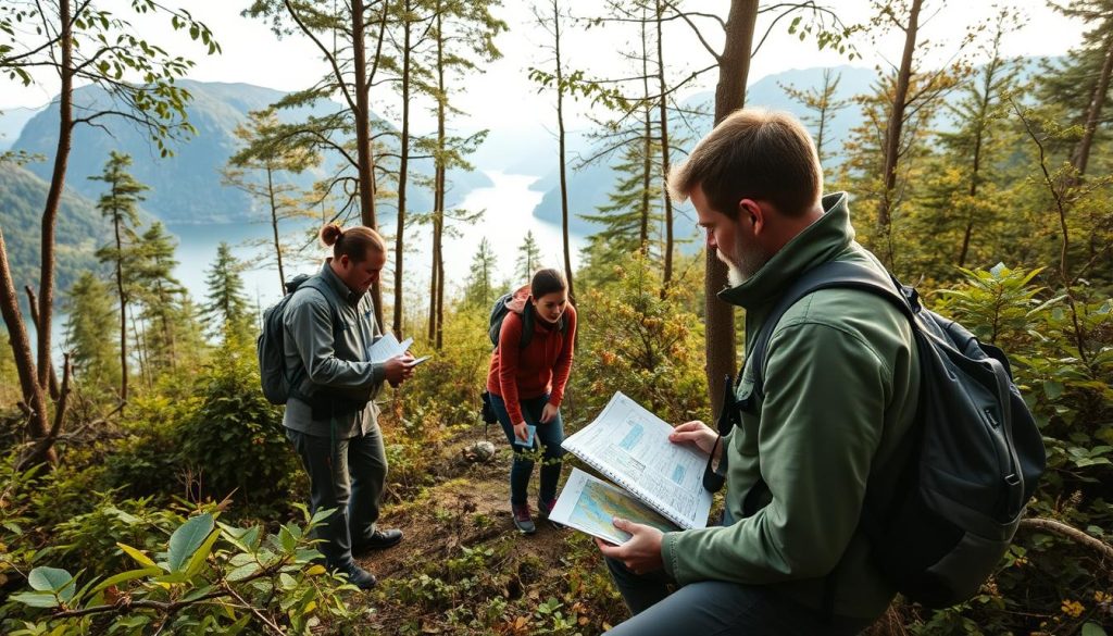
[[285, 507], [301, 467], [282, 425], [282, 410], [263, 397], [254, 352], [226, 344], [198, 380], [199, 408], [178, 429], [181, 459], [199, 488], [221, 498], [236, 491], [253, 505]]

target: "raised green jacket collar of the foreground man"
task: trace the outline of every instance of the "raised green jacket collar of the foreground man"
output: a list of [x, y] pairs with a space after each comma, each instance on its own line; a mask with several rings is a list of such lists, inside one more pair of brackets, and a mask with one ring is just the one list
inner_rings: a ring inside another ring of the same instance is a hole
[[854, 243], [845, 192], [824, 196], [824, 215], [797, 234], [741, 285], [719, 292], [719, 300], [743, 309], [775, 301], [804, 272], [834, 260]]

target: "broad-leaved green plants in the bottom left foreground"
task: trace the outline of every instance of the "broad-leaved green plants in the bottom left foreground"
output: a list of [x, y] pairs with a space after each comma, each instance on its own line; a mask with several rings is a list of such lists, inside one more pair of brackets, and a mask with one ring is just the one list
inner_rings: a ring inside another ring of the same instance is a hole
[[[115, 512], [146, 530], [142, 519]], [[312, 622], [328, 617], [338, 627], [353, 617], [341, 593], [354, 588], [314, 562], [321, 554], [309, 539], [312, 527], [331, 512], [312, 519], [304, 512], [303, 524], [283, 525], [273, 535], [257, 526], [219, 522], [213, 507], [188, 517], [164, 512], [164, 521], [173, 520], [169, 538], [164, 535], [140, 548], [117, 541], [122, 562], [95, 570], [115, 571], [110, 576], [71, 575], [46, 565], [30, 570], [31, 590], [9, 597], [0, 608], [0, 626], [13, 636], [162, 629], [238, 634], [248, 627], [309, 634]], [[96, 534], [96, 528], [80, 534]]]

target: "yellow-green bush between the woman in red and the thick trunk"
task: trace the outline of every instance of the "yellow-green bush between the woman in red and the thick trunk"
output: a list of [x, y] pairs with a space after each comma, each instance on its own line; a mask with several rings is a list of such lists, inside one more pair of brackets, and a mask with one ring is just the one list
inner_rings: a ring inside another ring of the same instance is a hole
[[690, 281], [664, 293], [644, 256], [615, 265], [618, 281], [581, 295], [579, 351], [571, 383], [589, 412], [622, 391], [666, 421], [707, 419], [702, 331]]

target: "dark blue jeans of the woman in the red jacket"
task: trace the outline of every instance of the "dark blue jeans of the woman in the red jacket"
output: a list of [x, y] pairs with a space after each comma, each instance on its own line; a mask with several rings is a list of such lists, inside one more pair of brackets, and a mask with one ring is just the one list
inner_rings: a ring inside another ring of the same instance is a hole
[[[538, 428], [533, 438], [534, 448], [541, 442], [543, 461], [541, 463], [541, 493], [542, 501], [556, 499], [556, 482], [560, 480], [561, 458], [564, 457], [564, 449], [561, 442], [564, 441], [564, 422], [560, 412], [549, 423], [541, 423], [541, 412], [549, 403], [549, 395], [520, 400], [519, 407], [522, 409], [522, 417], [526, 424]], [[526, 502], [526, 491], [530, 487], [530, 476], [533, 474], [533, 460], [524, 454], [526, 450], [514, 443], [514, 424], [510, 421], [510, 413], [506, 412], [506, 402], [501, 395], [491, 393], [491, 408], [502, 424], [502, 432], [506, 433], [506, 441], [510, 448], [514, 449], [514, 463], [510, 467], [510, 502], [514, 506], [522, 506]]]

